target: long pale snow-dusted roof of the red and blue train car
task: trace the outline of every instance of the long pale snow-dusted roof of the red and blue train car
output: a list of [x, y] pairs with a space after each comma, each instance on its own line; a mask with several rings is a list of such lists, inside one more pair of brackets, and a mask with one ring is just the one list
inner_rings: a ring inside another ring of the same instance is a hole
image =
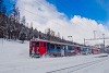
[[[58, 44], [58, 45], [68, 45], [68, 46], [78, 46], [78, 47], [82, 47], [81, 45], [74, 45], [74, 44], [65, 44], [65, 42], [59, 42], [59, 41], [51, 41], [51, 40], [45, 40], [45, 39], [39, 39], [39, 38], [35, 38], [35, 39], [32, 39], [31, 41], [46, 41], [46, 42], [50, 42], [50, 44]], [[84, 46], [86, 47], [86, 46]]]

